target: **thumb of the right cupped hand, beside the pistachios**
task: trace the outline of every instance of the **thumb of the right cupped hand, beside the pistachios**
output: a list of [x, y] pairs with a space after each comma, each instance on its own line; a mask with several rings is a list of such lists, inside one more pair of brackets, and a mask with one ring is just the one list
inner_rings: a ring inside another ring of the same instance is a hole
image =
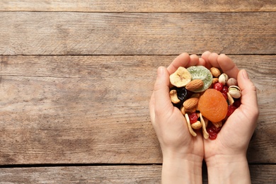
[[257, 90], [253, 82], [248, 78], [246, 70], [238, 72], [238, 86], [241, 88], [241, 109], [252, 116], [258, 116]]

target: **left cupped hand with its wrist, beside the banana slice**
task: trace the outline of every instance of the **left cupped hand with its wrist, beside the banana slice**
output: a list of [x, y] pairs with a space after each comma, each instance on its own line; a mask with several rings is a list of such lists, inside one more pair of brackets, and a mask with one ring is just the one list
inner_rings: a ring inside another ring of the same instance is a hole
[[202, 134], [192, 137], [185, 117], [169, 97], [169, 75], [178, 67], [204, 65], [195, 54], [180, 54], [168, 68], [159, 67], [149, 103], [151, 122], [163, 154], [162, 183], [202, 183]]

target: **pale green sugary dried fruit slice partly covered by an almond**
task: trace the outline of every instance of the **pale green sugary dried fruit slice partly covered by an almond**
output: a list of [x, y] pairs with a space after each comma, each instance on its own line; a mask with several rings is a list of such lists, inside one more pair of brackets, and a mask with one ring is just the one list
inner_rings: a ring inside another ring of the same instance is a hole
[[188, 67], [187, 70], [192, 75], [192, 80], [194, 80], [194, 79], [201, 79], [203, 81], [203, 83], [204, 83], [204, 85], [202, 86], [202, 88], [199, 88], [199, 89], [194, 90], [192, 92], [200, 93], [202, 91], [207, 90], [207, 88], [209, 88], [209, 86], [212, 85], [213, 76], [212, 76], [211, 71], [209, 71], [209, 69], [207, 69], [206, 67], [203, 67], [203, 66], [192, 66], [192, 67]]

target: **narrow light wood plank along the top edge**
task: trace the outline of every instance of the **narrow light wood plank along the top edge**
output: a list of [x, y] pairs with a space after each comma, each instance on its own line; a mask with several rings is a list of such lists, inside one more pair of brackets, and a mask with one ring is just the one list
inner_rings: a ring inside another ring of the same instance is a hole
[[210, 12], [210, 11], [276, 11], [274, 0], [263, 1], [129, 1], [129, 0], [4, 0], [0, 11], [108, 11], [108, 12]]

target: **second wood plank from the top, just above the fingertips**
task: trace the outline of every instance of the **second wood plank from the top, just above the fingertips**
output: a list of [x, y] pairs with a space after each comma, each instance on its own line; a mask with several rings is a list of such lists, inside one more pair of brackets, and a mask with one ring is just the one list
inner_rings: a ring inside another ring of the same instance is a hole
[[276, 12], [0, 12], [0, 54], [275, 54]]

